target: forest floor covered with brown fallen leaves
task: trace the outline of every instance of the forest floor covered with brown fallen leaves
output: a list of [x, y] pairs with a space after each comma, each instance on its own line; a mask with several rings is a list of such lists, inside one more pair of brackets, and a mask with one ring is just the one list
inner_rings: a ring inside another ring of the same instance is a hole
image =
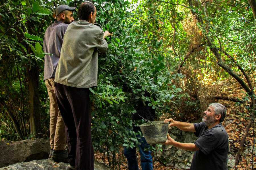
[[[231, 111], [232, 110], [232, 111]], [[250, 115], [244, 114], [245, 112], [241, 111], [241, 107], [233, 107], [229, 108], [227, 111], [226, 119], [223, 122], [223, 126], [225, 127], [228, 136], [229, 136], [229, 154], [232, 155], [232, 158], [236, 158], [236, 154], [238, 151], [238, 148], [240, 146], [241, 139], [243, 138], [243, 135], [245, 133], [246, 127], [249, 123]], [[255, 147], [253, 147], [253, 141], [254, 141], [254, 134], [253, 134], [253, 127], [249, 130], [249, 135], [246, 138], [245, 146], [243, 153], [241, 154], [240, 163], [237, 166], [239, 170], [248, 170], [252, 169], [252, 154], [251, 151], [254, 148], [255, 153]], [[193, 141], [191, 141], [193, 143]], [[254, 168], [256, 169], [256, 159], [255, 155], [253, 156], [253, 164]], [[126, 158], [123, 156], [123, 150], [120, 151], [120, 154], [117, 154], [117, 159], [121, 161], [120, 169], [121, 170], [127, 170], [128, 164]], [[95, 160], [105, 163], [106, 165], [109, 165], [107, 156], [104, 153], [95, 152]], [[137, 160], [139, 164], [139, 169], [141, 170], [140, 165], [140, 155], [139, 152], [137, 152]], [[181, 170], [181, 169], [175, 169], [173, 167], [166, 167], [162, 163], [158, 162], [155, 158], [153, 158], [153, 166], [154, 170]], [[234, 168], [229, 168], [229, 170], [235, 170]]]

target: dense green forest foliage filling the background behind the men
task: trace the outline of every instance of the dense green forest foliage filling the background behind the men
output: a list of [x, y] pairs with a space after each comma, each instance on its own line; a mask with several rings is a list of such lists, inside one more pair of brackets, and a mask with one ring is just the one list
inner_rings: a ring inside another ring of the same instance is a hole
[[[81, 2], [1, 1], [1, 139], [47, 138], [44, 32], [57, 5]], [[166, 113], [196, 121], [201, 108], [220, 95], [210, 84], [232, 76], [247, 93], [237, 101], [247, 101], [253, 113], [256, 27], [247, 1], [94, 3], [96, 21], [113, 36], [107, 38], [109, 51], [99, 56], [98, 86], [90, 89], [92, 137], [95, 150], [112, 153], [113, 166], [119, 164], [115, 153], [121, 147], [138, 144], [128, 130], [138, 101], [150, 101], [156, 119]], [[129, 91], [123, 90], [125, 81]], [[145, 97], [145, 91], [151, 96]]]

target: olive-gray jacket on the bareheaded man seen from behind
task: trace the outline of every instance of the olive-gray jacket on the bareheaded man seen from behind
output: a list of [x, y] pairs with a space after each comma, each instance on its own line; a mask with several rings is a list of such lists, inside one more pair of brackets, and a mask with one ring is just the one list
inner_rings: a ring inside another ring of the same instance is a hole
[[72, 22], [63, 37], [55, 82], [66, 86], [97, 86], [98, 52], [108, 50], [100, 25], [86, 20]]

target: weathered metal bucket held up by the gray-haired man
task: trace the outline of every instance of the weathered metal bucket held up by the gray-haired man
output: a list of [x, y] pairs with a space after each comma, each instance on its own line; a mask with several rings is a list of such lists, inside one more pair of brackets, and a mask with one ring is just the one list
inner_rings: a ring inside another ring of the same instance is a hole
[[157, 144], [165, 142], [167, 140], [169, 123], [164, 123], [164, 121], [154, 121], [152, 123], [147, 122], [140, 125], [147, 143]]

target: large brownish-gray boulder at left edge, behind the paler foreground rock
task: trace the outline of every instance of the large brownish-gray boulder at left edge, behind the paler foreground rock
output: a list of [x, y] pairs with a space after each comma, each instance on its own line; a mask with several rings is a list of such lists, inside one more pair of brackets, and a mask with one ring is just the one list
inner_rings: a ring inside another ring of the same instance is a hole
[[46, 139], [33, 139], [22, 141], [0, 141], [0, 167], [17, 162], [47, 159], [50, 144]]

